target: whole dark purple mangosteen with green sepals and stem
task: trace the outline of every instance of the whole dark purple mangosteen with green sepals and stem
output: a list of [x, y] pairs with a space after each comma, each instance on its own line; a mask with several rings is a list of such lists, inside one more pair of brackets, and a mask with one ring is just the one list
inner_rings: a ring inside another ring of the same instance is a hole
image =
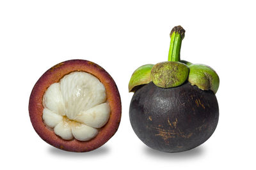
[[129, 81], [132, 129], [145, 145], [161, 152], [183, 152], [211, 137], [219, 118], [218, 74], [204, 64], [180, 60], [185, 30], [170, 33], [167, 62], [147, 64]]

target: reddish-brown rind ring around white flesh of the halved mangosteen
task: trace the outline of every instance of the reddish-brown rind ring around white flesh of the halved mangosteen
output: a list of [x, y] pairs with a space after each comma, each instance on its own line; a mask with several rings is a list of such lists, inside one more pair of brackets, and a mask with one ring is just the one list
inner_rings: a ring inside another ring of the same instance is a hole
[[[40, 138], [56, 148], [70, 152], [88, 152], [104, 145], [117, 131], [121, 119], [121, 99], [115, 81], [99, 65], [88, 60], [67, 60], [57, 64], [46, 71], [36, 82], [31, 96], [29, 98], [29, 117], [31, 123]], [[107, 101], [109, 103], [111, 114], [108, 123], [99, 129], [99, 133], [90, 141], [78, 141], [72, 139], [66, 141], [54, 134], [54, 131], [47, 129], [43, 120], [42, 113], [44, 107], [42, 98], [44, 92], [52, 83], [57, 83], [60, 79], [73, 71], [85, 71], [96, 76], [106, 88]]]

